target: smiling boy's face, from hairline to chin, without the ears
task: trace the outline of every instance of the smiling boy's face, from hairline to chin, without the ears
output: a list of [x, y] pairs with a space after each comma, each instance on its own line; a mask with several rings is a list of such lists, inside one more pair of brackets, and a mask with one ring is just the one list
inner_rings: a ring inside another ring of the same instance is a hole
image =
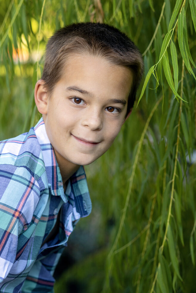
[[125, 121], [131, 81], [128, 68], [102, 57], [68, 59], [42, 113], [60, 166], [88, 165], [109, 149]]

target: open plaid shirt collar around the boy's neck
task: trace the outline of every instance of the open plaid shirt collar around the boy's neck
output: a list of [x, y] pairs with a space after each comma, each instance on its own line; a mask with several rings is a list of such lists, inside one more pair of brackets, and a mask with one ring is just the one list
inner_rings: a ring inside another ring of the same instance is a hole
[[[73, 205], [80, 213], [80, 216], [84, 217], [89, 215], [91, 212], [91, 199], [83, 166], [80, 166], [80, 168], [70, 177], [66, 192], [64, 193], [60, 168], [52, 144], [46, 134], [43, 118], [41, 118], [35, 125], [34, 132], [41, 146], [48, 179], [48, 187], [51, 194], [54, 196], [60, 196], [64, 202], [67, 202], [72, 198], [74, 201]], [[82, 206], [81, 202], [83, 203]]]

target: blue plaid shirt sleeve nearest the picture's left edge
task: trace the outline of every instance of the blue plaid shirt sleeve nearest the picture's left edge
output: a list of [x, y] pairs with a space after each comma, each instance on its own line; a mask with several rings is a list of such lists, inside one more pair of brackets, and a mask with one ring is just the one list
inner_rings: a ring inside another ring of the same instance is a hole
[[18, 236], [28, 228], [37, 202], [38, 184], [29, 171], [24, 167], [1, 164], [0, 283], [7, 277], [20, 253]]

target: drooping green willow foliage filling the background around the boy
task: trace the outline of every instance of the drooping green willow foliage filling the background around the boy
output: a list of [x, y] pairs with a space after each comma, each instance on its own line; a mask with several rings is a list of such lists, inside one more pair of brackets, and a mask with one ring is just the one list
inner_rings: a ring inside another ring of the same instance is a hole
[[68, 292], [66, 276], [81, 280], [78, 292], [195, 292], [195, 0], [1, 1], [0, 138], [38, 120], [33, 88], [46, 41], [81, 21], [124, 31], [145, 68], [137, 107], [86, 167], [95, 211], [83, 223], [96, 226], [97, 252], [66, 271], [55, 292]]

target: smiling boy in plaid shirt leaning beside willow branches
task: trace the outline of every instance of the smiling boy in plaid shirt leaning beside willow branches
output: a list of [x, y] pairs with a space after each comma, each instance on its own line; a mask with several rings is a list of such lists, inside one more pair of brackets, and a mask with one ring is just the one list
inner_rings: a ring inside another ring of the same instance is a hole
[[53, 292], [73, 227], [91, 212], [83, 165], [104, 154], [130, 115], [138, 48], [101, 23], [49, 39], [35, 103], [42, 118], [0, 143], [0, 292]]

